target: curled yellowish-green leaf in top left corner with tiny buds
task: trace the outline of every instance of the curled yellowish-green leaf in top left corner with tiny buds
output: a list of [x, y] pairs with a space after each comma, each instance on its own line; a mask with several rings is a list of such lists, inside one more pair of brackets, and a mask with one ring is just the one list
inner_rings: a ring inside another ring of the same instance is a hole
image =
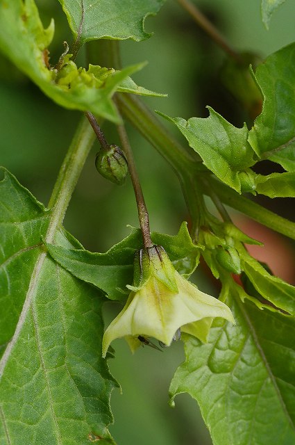
[[112, 95], [121, 91], [156, 95], [137, 87], [128, 78], [140, 70], [142, 64], [122, 71], [90, 65], [88, 70], [78, 68], [65, 57], [57, 70], [49, 65], [47, 47], [51, 43], [54, 24], [44, 29], [33, 0], [0, 0], [0, 49], [19, 70], [22, 70], [53, 101], [65, 108], [92, 111], [95, 115], [119, 122]]

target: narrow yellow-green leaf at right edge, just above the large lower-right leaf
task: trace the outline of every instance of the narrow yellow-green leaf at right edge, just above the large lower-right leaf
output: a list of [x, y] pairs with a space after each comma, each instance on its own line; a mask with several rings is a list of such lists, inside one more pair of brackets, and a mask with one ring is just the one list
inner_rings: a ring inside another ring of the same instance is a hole
[[295, 315], [295, 287], [271, 275], [246, 251], [239, 250], [242, 269], [255, 289], [265, 300], [288, 314]]

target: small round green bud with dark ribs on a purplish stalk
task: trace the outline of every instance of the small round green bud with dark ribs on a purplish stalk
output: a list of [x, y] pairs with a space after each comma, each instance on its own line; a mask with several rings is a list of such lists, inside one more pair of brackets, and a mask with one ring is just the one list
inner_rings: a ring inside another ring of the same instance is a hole
[[115, 184], [123, 184], [128, 175], [128, 163], [121, 148], [115, 144], [102, 148], [96, 154], [96, 170]]

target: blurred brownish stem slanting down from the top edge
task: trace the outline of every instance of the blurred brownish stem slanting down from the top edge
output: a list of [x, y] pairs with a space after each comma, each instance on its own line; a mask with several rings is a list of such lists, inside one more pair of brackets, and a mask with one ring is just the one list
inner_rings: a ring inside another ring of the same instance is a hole
[[235, 58], [235, 60], [238, 62], [240, 61], [239, 54], [237, 54], [237, 52], [230, 47], [224, 36], [219, 33], [215, 26], [207, 19], [207, 17], [205, 17], [205, 15], [201, 13], [198, 8], [196, 8], [193, 3], [191, 3], [189, 0], [178, 0], [178, 3], [185, 10], [187, 10], [189, 15], [191, 15], [200, 28], [203, 29], [203, 31], [205, 31], [205, 33], [207, 33], [219, 47], [224, 49], [224, 51], [226, 51], [230, 57]]

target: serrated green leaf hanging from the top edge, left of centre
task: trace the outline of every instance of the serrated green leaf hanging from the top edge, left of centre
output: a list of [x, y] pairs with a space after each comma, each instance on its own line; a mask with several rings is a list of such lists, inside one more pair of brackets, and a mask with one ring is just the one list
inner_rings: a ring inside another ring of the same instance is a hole
[[165, 0], [59, 0], [67, 15], [69, 26], [79, 46], [88, 40], [111, 38], [149, 38], [144, 22], [155, 15]]

